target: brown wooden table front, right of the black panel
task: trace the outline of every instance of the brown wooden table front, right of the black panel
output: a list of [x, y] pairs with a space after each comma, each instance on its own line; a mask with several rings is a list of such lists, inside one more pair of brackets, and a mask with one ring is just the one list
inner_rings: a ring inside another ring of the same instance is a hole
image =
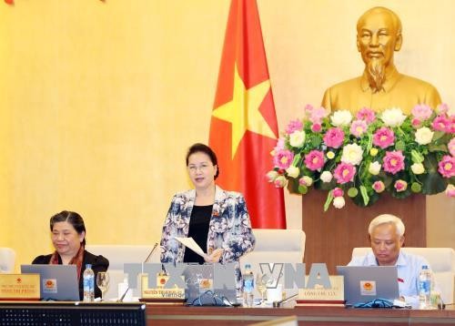
[[455, 307], [445, 310], [352, 309], [330, 306], [293, 308], [185, 307], [147, 304], [147, 325], [248, 325], [285, 316], [298, 324], [313, 325], [455, 325]]

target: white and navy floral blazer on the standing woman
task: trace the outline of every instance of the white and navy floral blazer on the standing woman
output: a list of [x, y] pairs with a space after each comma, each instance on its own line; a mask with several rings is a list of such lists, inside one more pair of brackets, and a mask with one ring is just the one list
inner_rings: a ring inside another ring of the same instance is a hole
[[[195, 189], [177, 193], [172, 199], [161, 236], [161, 262], [183, 262], [185, 246], [174, 237], [187, 237], [195, 199]], [[237, 262], [236, 276], [239, 282], [238, 259], [252, 250], [254, 245], [255, 237], [244, 197], [238, 192], [216, 186], [207, 234], [207, 253], [222, 248], [224, 251], [220, 262]]]

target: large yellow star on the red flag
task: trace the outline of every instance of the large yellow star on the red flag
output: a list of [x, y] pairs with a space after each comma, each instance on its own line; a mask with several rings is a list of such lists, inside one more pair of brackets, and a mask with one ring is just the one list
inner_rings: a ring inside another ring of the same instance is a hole
[[268, 138], [276, 139], [266, 119], [261, 115], [259, 107], [270, 89], [270, 81], [245, 88], [238, 68], [234, 68], [234, 90], [232, 100], [213, 110], [212, 116], [232, 124], [231, 157], [234, 158], [238, 144], [247, 130]]

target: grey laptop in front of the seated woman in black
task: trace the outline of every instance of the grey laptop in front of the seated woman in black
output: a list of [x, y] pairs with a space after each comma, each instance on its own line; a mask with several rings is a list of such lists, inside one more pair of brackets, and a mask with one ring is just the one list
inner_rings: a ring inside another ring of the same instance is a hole
[[21, 273], [40, 274], [41, 300], [80, 300], [76, 265], [21, 265]]

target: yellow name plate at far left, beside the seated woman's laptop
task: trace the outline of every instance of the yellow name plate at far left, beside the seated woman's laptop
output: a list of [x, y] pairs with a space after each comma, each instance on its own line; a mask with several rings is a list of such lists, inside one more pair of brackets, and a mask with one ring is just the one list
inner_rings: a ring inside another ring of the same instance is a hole
[[0, 300], [39, 300], [39, 274], [0, 274]]

